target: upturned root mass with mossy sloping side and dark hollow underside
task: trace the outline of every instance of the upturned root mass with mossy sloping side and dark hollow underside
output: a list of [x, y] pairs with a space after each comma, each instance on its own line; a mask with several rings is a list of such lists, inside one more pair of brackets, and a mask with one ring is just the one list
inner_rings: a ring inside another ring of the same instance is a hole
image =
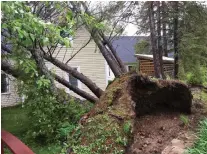
[[191, 113], [192, 95], [178, 81], [152, 80], [133, 72], [116, 78], [69, 138], [70, 153], [125, 153], [134, 122], [155, 112]]

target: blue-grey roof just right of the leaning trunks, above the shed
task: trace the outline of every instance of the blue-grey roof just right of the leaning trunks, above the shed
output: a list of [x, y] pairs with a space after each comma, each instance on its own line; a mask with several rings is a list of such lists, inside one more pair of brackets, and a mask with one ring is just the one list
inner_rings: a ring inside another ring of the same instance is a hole
[[135, 45], [147, 36], [119, 36], [112, 40], [112, 46], [124, 63], [136, 63]]

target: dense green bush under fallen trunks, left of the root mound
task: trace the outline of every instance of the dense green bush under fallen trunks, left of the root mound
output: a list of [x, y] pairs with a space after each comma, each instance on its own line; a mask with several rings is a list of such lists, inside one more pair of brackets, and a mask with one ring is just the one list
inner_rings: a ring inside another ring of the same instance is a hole
[[28, 135], [38, 142], [49, 143], [66, 140], [80, 117], [88, 111], [84, 104], [69, 101], [58, 102], [50, 95], [39, 96], [35, 102], [28, 102], [29, 118], [32, 121]]

